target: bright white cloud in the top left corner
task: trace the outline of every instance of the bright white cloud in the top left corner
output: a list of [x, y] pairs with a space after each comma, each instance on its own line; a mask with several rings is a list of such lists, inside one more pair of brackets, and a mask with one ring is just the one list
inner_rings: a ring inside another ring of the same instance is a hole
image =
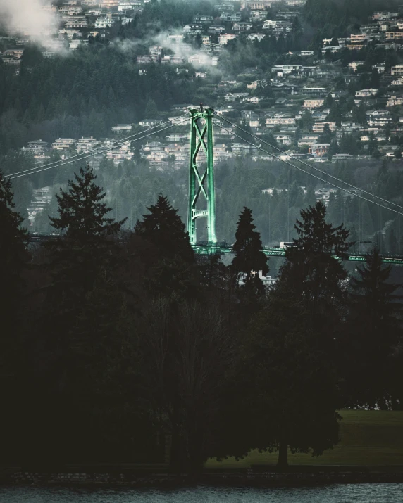
[[11, 33], [27, 32], [34, 37], [56, 29], [56, 16], [44, 11], [51, 0], [0, 0], [0, 23]]

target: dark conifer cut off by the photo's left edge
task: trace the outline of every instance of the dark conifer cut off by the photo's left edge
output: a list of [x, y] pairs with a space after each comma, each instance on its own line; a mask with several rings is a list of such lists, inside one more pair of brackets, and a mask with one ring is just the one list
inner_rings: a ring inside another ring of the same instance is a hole
[[[25, 299], [23, 274], [27, 267], [27, 233], [21, 228], [23, 217], [15, 210], [11, 181], [0, 172], [0, 393], [2, 412], [1, 431], [7, 432], [2, 441], [4, 459], [15, 459], [20, 449], [23, 422], [21, 402], [26, 383]], [[23, 383], [23, 386], [21, 386]], [[25, 416], [26, 418], [26, 416]]]

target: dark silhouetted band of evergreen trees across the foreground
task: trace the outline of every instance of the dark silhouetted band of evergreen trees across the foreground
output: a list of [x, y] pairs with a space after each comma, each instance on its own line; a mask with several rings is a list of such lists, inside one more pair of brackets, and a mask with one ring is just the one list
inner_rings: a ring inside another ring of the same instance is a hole
[[[375, 249], [349, 279], [349, 232], [302, 211], [278, 282], [248, 208], [235, 257], [195, 256], [163, 196], [132, 231], [80, 170], [56, 234], [27, 248], [0, 177], [1, 459], [163, 461], [253, 448], [321, 454], [342, 407], [401, 408], [401, 304]], [[242, 279], [242, 281], [240, 281]]]

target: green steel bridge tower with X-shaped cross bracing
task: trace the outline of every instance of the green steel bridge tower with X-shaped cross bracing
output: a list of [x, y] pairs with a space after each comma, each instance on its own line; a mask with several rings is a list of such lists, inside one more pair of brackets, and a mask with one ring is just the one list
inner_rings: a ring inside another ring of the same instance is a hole
[[[192, 108], [190, 113], [190, 174], [189, 174], [189, 210], [187, 213], [187, 231], [190, 243], [197, 243], [196, 221], [199, 217], [207, 218], [207, 241], [209, 245], [217, 243], [216, 238], [216, 198], [214, 193], [213, 165], [213, 108], [200, 106]], [[200, 172], [197, 157], [206, 154], [206, 169]]]

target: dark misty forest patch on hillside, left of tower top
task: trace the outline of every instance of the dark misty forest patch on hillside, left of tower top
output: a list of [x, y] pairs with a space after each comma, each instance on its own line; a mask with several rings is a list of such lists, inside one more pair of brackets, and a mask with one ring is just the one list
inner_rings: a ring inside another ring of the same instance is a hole
[[[200, 83], [171, 66], [149, 65], [139, 75], [135, 53], [94, 44], [68, 58], [23, 61], [20, 75], [0, 72], [0, 149], [58, 136], [109, 136], [116, 122], [138, 122], [149, 99], [159, 110], [192, 101]], [[198, 96], [197, 96], [198, 97]]]

